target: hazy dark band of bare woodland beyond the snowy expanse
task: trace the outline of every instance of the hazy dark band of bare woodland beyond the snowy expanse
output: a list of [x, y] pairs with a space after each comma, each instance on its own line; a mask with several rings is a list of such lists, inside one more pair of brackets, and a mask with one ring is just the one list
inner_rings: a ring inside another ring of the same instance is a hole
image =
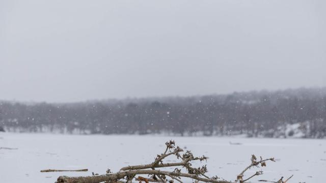
[[0, 126], [16, 132], [324, 138], [326, 88], [65, 104], [2, 101]]

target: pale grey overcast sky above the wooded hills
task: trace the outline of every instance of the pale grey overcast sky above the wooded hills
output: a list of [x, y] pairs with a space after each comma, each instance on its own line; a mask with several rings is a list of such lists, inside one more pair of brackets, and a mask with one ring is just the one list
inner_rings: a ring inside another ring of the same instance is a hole
[[0, 100], [326, 86], [325, 2], [0, 0]]

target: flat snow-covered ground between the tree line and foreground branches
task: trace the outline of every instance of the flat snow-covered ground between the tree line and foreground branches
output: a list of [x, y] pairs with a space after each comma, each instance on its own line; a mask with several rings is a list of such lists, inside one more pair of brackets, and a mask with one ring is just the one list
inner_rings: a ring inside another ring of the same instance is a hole
[[[0, 182], [53, 183], [60, 175], [105, 174], [107, 168], [115, 172], [127, 165], [151, 163], [170, 139], [192, 150], [194, 155], [208, 156], [208, 174], [227, 180], [234, 180], [236, 174], [249, 165], [252, 154], [277, 160], [267, 162], [267, 167], [262, 169], [264, 174], [252, 179], [253, 182], [292, 174], [289, 182], [326, 179], [326, 140], [0, 133], [0, 147], [17, 148], [0, 149]], [[231, 145], [230, 141], [241, 145]], [[40, 172], [42, 169], [85, 168], [89, 171]], [[258, 170], [261, 169], [251, 169], [247, 175]]]

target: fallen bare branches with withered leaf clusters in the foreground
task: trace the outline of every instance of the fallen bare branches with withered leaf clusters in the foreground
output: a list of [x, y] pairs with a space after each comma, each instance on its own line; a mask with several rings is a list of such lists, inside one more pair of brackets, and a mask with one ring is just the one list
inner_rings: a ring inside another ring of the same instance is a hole
[[[179, 146], [175, 146], [175, 142], [170, 140], [166, 142], [166, 149], [164, 153], [157, 155], [154, 162], [146, 165], [135, 165], [123, 167], [117, 173], [113, 173], [108, 169], [105, 175], [93, 175], [93, 176], [79, 176], [79, 177], [68, 177], [60, 176], [58, 177], [56, 183], [132, 183], [132, 180], [137, 180], [140, 183], [142, 181], [149, 183], [151, 182], [161, 182], [161, 183], [173, 183], [174, 181], [182, 182], [182, 178], [191, 178], [194, 183], [210, 182], [210, 183], [243, 183], [248, 182], [251, 178], [263, 174], [263, 171], [257, 171], [255, 174], [244, 177], [244, 173], [252, 167], [264, 167], [266, 166], [267, 161], [275, 162], [274, 158], [260, 159], [258, 160], [255, 155], [251, 157], [251, 164], [246, 167], [243, 171], [237, 174], [234, 181], [228, 181], [218, 176], [209, 177], [206, 175], [207, 167], [206, 165], [195, 168], [192, 166], [194, 161], [207, 161], [207, 157], [194, 157], [193, 153], [189, 150], [185, 151]], [[165, 163], [163, 160], [169, 156], [175, 156], [180, 162], [178, 163]], [[159, 168], [164, 167], [176, 167], [174, 171], [162, 171]], [[186, 172], [182, 171], [179, 168], [183, 168]], [[148, 175], [148, 177], [142, 177], [139, 175]], [[138, 176], [138, 177], [136, 177]], [[293, 175], [292, 175], [293, 176]], [[275, 182], [275, 183], [285, 183], [292, 176], [283, 180], [281, 177], [278, 181], [267, 181], [260, 180], [265, 182]]]

